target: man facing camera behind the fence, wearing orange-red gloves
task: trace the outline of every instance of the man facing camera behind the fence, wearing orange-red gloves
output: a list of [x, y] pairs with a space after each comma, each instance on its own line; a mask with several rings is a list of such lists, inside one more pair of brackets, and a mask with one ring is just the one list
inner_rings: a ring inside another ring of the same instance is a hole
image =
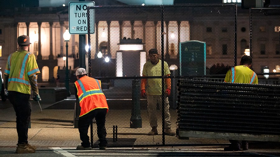
[[[161, 76], [161, 60], [158, 59], [158, 52], [156, 49], [149, 50], [150, 61], [147, 61], [143, 67], [142, 76]], [[168, 64], [164, 61], [164, 76], [170, 76]], [[170, 113], [168, 96], [171, 91], [171, 79], [165, 78], [165, 93], [164, 93], [164, 117], [165, 117], [165, 135], [174, 136], [175, 132], [171, 130]], [[147, 91], [147, 93], [146, 93]], [[156, 113], [156, 104], [161, 108], [161, 78], [144, 78], [141, 80], [141, 96], [147, 96], [148, 113], [150, 117], [150, 125], [152, 130], [148, 135], [157, 135], [157, 119], [159, 118]]]

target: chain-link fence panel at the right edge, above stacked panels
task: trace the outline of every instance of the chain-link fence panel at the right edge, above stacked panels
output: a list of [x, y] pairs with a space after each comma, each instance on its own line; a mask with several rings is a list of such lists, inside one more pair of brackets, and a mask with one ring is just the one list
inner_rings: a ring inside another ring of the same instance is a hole
[[279, 85], [280, 9], [250, 9], [250, 56], [259, 83]]

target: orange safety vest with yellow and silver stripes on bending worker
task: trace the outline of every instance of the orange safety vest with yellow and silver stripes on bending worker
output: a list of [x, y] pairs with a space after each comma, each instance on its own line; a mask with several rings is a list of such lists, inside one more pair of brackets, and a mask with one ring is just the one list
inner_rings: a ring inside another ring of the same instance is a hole
[[106, 97], [101, 90], [101, 81], [83, 76], [75, 82], [81, 106], [80, 117], [95, 109], [109, 110]]

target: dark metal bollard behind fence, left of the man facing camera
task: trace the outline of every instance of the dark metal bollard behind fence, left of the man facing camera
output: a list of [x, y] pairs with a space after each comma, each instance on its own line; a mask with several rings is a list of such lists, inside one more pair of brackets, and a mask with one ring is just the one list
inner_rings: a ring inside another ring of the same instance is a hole
[[130, 118], [130, 128], [142, 128], [142, 118], [140, 113], [140, 80], [132, 80], [132, 110]]

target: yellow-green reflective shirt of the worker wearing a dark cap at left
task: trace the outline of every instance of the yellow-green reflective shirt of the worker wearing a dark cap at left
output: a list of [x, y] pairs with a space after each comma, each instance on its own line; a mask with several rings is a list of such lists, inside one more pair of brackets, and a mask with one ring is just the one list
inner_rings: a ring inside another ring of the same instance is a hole
[[29, 77], [40, 74], [35, 55], [25, 50], [10, 54], [4, 74], [9, 76], [9, 91], [31, 94]]

